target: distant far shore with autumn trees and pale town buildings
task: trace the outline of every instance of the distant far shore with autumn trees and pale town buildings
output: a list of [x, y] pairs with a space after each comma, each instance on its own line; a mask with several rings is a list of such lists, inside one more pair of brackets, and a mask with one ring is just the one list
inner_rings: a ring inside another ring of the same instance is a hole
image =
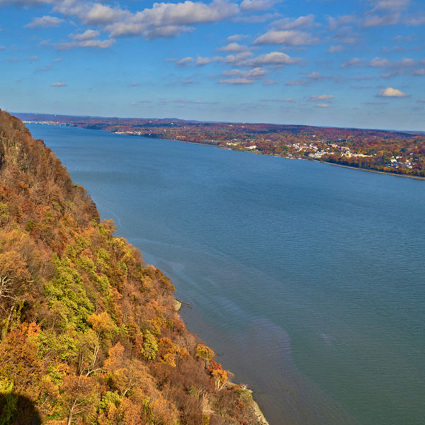
[[28, 123], [70, 125], [123, 135], [179, 140], [232, 150], [311, 159], [425, 177], [425, 133], [177, 119], [103, 118], [16, 113]]

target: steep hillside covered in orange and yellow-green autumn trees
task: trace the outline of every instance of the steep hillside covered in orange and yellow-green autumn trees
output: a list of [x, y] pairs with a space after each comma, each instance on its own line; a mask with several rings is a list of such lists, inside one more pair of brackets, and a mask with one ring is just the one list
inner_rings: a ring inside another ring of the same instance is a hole
[[264, 424], [174, 286], [0, 111], [0, 425]]

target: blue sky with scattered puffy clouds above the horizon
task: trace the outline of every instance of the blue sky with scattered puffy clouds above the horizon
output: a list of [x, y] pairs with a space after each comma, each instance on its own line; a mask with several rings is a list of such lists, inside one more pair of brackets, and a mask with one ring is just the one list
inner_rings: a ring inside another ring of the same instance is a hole
[[0, 0], [0, 108], [425, 130], [423, 0]]

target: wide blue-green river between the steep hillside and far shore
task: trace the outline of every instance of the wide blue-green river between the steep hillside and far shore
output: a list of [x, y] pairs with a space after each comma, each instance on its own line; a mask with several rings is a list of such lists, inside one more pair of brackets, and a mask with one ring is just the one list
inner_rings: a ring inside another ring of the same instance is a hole
[[425, 423], [425, 181], [30, 125], [271, 425]]

